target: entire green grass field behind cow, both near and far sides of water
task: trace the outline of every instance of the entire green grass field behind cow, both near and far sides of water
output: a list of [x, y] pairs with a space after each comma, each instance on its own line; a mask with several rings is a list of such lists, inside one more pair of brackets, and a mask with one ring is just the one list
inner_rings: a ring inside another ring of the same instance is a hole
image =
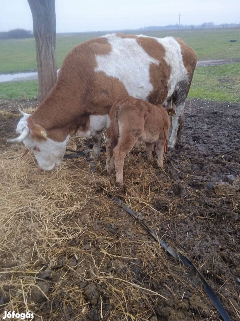
[[[136, 30], [128, 33], [143, 33]], [[57, 65], [77, 44], [105, 32], [57, 35]], [[194, 48], [198, 60], [240, 58], [240, 29], [145, 31], [154, 37], [180, 37]], [[230, 43], [229, 39], [237, 39]], [[36, 70], [35, 39], [1, 40], [0, 74]], [[216, 101], [240, 101], [240, 64], [198, 67], [188, 97]], [[37, 82], [0, 83], [0, 99], [29, 99], [37, 96]]]

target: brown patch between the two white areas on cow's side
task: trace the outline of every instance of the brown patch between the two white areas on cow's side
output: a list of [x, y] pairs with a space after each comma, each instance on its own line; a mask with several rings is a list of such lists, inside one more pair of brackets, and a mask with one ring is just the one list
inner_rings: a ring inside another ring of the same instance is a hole
[[165, 49], [156, 39], [138, 37], [138, 44], [147, 52], [147, 54], [156, 60], [159, 65], [151, 64], [150, 81], [153, 85], [153, 91], [148, 96], [151, 104], [162, 104], [168, 93], [168, 80], [171, 74], [171, 66], [167, 65], [164, 56]]

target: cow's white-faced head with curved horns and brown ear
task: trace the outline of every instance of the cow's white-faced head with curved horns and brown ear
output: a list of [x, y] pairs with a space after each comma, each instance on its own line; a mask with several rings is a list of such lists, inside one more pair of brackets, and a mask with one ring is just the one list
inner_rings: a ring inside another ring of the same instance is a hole
[[23, 117], [20, 119], [16, 129], [20, 136], [9, 139], [8, 142], [23, 142], [29, 151], [34, 152], [38, 165], [44, 170], [51, 170], [55, 166], [59, 166], [70, 135], [67, 136], [65, 141], [57, 142], [47, 137], [46, 131], [42, 126], [35, 124], [29, 128], [28, 117], [31, 115], [21, 110], [20, 112]]

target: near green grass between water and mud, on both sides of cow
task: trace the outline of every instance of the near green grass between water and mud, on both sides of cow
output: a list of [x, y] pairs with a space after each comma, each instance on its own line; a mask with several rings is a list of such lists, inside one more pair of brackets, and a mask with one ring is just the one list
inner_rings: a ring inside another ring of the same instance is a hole
[[[0, 99], [37, 97], [37, 81], [2, 82]], [[240, 102], [240, 64], [197, 67], [188, 98]]]

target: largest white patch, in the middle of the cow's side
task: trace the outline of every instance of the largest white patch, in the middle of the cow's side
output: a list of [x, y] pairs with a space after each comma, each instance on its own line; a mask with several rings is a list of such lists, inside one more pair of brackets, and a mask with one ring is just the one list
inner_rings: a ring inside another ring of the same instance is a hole
[[112, 46], [108, 55], [96, 55], [95, 72], [104, 72], [119, 79], [129, 95], [147, 100], [153, 91], [150, 82], [150, 65], [159, 61], [149, 56], [137, 39], [121, 38], [116, 34], [103, 36]]

